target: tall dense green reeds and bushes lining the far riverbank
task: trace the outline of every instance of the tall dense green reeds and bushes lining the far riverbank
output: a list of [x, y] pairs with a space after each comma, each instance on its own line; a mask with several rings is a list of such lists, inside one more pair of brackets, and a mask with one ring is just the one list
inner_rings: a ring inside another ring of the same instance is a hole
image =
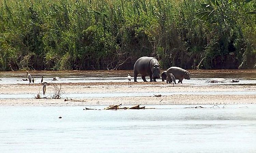
[[0, 0], [0, 70], [256, 68], [256, 0]]

